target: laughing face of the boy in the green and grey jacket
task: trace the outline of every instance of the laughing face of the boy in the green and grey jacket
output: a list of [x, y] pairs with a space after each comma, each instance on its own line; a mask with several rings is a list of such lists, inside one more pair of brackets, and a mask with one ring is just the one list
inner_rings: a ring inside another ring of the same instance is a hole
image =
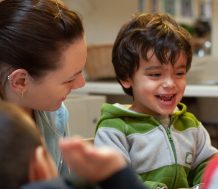
[[176, 63], [161, 64], [152, 51], [149, 61], [140, 60], [139, 69], [124, 82], [132, 87], [131, 109], [150, 115], [168, 116], [182, 99], [186, 86], [186, 58], [180, 53]]

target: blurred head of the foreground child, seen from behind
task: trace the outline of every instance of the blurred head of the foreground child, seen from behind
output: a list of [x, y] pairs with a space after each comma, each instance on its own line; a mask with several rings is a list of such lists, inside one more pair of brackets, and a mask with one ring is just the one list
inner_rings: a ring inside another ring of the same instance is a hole
[[57, 175], [33, 120], [13, 104], [0, 101], [0, 188], [17, 189]]

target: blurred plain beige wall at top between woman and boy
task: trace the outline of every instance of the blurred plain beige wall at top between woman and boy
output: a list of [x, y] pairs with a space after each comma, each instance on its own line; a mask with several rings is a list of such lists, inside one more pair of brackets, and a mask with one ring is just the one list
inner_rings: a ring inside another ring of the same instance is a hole
[[81, 13], [88, 44], [113, 43], [121, 25], [137, 12], [137, 0], [64, 0]]

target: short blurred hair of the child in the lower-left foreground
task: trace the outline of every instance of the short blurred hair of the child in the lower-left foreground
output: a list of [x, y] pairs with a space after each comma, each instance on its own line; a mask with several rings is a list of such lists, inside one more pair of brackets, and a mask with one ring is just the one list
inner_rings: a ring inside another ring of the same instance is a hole
[[40, 145], [39, 130], [30, 117], [0, 101], [0, 188], [17, 189], [29, 182], [30, 161]]

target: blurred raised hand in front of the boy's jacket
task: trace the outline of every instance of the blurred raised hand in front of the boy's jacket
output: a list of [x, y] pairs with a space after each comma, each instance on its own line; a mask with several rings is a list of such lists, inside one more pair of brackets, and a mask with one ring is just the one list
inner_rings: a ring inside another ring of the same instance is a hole
[[70, 169], [90, 182], [104, 180], [126, 166], [112, 149], [96, 148], [79, 138], [61, 139], [59, 146]]

